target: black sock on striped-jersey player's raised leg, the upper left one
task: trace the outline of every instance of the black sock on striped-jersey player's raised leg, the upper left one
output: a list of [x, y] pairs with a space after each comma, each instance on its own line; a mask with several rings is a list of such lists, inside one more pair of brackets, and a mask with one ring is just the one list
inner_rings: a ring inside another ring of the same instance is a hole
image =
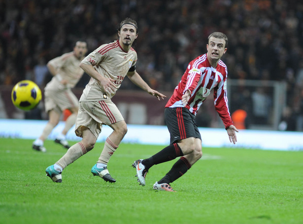
[[149, 169], [153, 165], [173, 160], [179, 156], [183, 156], [183, 152], [177, 143], [173, 143], [171, 145], [168, 145], [152, 157], [143, 160], [142, 164], [145, 166], [146, 169]]

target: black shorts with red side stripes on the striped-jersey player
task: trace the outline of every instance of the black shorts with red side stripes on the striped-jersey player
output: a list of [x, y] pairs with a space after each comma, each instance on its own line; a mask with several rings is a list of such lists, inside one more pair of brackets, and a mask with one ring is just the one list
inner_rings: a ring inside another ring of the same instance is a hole
[[170, 144], [191, 137], [201, 140], [196, 116], [187, 108], [165, 108], [164, 116], [170, 134]]

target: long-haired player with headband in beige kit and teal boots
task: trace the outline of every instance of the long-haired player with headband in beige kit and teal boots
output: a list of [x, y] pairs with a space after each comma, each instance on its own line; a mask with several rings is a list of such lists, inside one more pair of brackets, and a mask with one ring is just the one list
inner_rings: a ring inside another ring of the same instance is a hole
[[126, 18], [118, 28], [118, 40], [101, 45], [82, 60], [80, 67], [92, 77], [80, 98], [76, 120], [75, 133], [82, 140], [72, 145], [58, 162], [46, 168], [47, 176], [54, 182], [62, 182], [62, 170], [94, 148], [103, 124], [111, 127], [113, 132], [106, 139], [100, 158], [91, 172], [105, 181], [116, 182], [107, 170], [107, 163], [124, 138], [127, 125], [111, 98], [125, 76], [159, 100], [166, 97], [151, 89], [135, 71], [137, 54], [132, 44], [137, 34], [136, 21]]

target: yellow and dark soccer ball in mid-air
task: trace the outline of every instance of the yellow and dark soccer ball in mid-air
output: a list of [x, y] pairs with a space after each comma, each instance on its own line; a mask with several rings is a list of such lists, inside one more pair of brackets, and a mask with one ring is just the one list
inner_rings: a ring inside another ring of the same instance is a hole
[[24, 111], [34, 109], [41, 101], [42, 94], [39, 86], [30, 80], [17, 83], [11, 92], [13, 104]]

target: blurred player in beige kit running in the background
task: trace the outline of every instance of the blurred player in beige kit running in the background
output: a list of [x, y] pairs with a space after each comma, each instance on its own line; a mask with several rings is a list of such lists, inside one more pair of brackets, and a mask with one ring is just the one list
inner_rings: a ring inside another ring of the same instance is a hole
[[55, 142], [69, 148], [65, 138], [68, 130], [75, 124], [78, 112], [78, 98], [72, 93], [74, 87], [82, 77], [84, 71], [79, 63], [87, 52], [86, 42], [77, 41], [73, 52], [56, 57], [47, 63], [50, 73], [54, 76], [44, 88], [45, 111], [48, 113], [49, 121], [46, 124], [41, 136], [33, 142], [33, 149], [45, 152], [43, 146], [52, 130], [59, 123], [62, 112], [69, 109], [72, 114], [66, 120], [65, 127]]

